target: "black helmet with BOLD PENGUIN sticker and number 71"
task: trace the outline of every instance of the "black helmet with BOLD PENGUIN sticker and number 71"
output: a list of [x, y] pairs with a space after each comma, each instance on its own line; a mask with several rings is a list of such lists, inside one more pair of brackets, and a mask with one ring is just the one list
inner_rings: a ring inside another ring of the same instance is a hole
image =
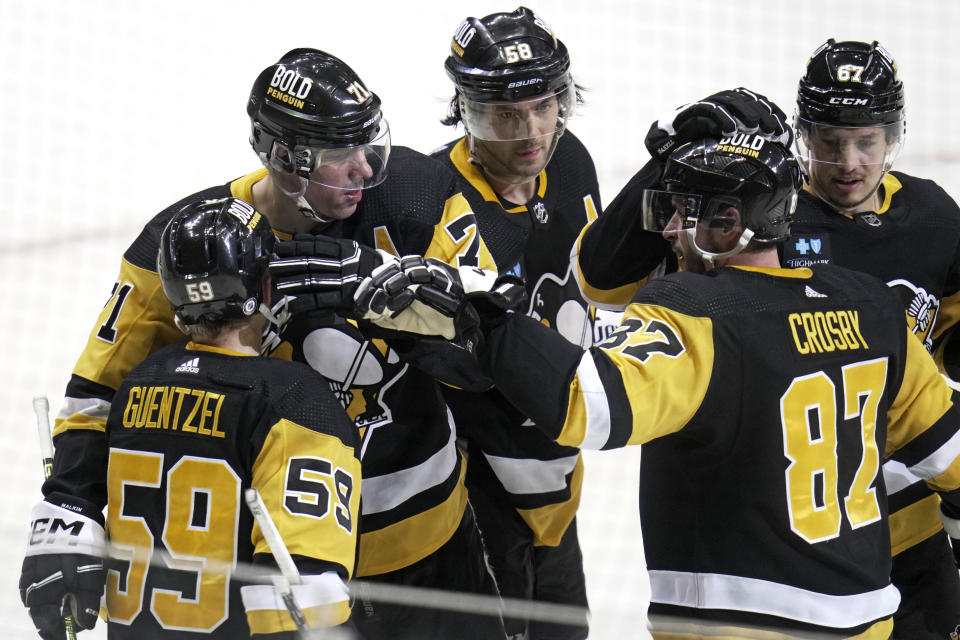
[[335, 56], [307, 48], [284, 54], [257, 76], [247, 115], [250, 144], [268, 168], [307, 180], [326, 158], [363, 149], [372, 177], [327, 186], [367, 188], [386, 177], [390, 132], [380, 98]]

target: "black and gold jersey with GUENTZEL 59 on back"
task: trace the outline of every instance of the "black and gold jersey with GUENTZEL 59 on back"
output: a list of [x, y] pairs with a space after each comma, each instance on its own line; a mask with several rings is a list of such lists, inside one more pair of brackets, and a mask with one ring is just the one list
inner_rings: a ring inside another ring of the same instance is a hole
[[[110, 542], [129, 554], [108, 564], [111, 638], [281, 630], [289, 615], [266, 602], [247, 612], [248, 623], [242, 583], [225, 569], [273, 564], [244, 503], [250, 487], [301, 574], [327, 575], [330, 588], [299, 603], [304, 614], [315, 623], [346, 621], [344, 583], [355, 569], [360, 515], [359, 441], [319, 374], [189, 342], [150, 355], [113, 400], [105, 438], [91, 430], [60, 436], [61, 455], [44, 485], [45, 493], [105, 505]], [[161, 552], [152, 560], [151, 548]]]

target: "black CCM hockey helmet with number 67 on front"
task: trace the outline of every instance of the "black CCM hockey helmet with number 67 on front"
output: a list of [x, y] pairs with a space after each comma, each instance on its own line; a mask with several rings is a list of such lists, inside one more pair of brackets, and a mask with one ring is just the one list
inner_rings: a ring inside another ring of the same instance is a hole
[[810, 56], [797, 91], [798, 119], [817, 124], [889, 125], [903, 120], [903, 107], [897, 64], [877, 41], [827, 40]]

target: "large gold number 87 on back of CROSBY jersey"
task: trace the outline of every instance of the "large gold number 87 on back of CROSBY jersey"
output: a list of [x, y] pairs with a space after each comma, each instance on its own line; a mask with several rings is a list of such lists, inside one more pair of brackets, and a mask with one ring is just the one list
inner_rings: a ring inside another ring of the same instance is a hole
[[[873, 486], [880, 469], [876, 427], [887, 360], [880, 358], [843, 367], [843, 418], [859, 418], [862, 454], [843, 500], [851, 528], [880, 519]], [[790, 527], [810, 543], [835, 538], [842, 512], [838, 498], [836, 385], [823, 371], [794, 378], [780, 398], [783, 452]]]

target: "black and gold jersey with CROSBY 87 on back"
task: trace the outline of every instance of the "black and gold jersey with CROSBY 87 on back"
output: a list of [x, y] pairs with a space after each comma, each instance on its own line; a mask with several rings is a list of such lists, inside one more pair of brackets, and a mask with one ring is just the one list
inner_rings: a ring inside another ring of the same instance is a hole
[[558, 442], [646, 443], [652, 614], [885, 638], [899, 595], [881, 461], [957, 501], [956, 397], [865, 274], [671, 274], [586, 353], [516, 317], [484, 362]]

